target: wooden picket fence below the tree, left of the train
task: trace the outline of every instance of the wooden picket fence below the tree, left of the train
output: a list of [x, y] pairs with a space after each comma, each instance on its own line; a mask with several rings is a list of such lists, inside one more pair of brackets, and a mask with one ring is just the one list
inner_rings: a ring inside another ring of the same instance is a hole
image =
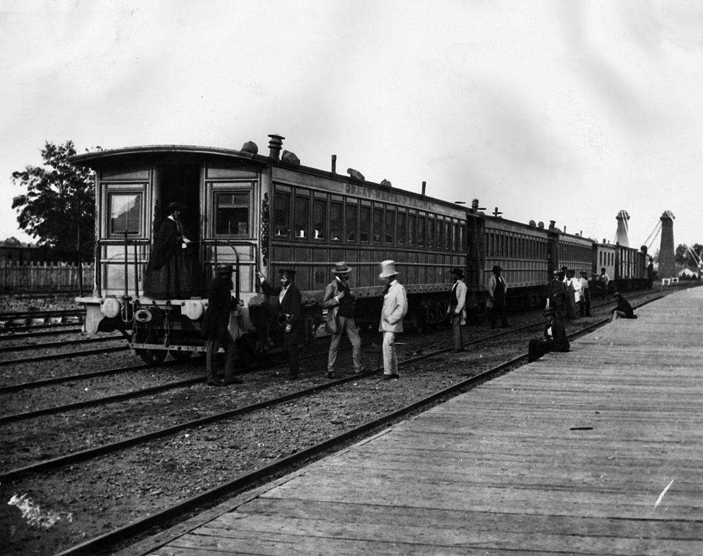
[[[92, 292], [93, 280], [93, 263], [84, 264], [83, 289], [85, 292]], [[0, 261], [0, 290], [3, 292], [77, 292], [78, 287], [76, 264]]]

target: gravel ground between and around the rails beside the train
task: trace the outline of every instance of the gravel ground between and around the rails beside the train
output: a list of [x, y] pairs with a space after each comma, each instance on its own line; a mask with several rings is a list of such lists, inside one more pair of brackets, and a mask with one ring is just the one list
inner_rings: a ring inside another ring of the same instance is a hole
[[[600, 311], [601, 318], [604, 313]], [[598, 314], [594, 311], [594, 315]], [[538, 313], [531, 313], [512, 316], [510, 321], [517, 326], [539, 318]], [[595, 317], [581, 319], [570, 328], [596, 320]], [[467, 327], [467, 340], [485, 333], [484, 327]], [[6, 546], [4, 554], [52, 554], [145, 517], [522, 354], [526, 351], [527, 340], [540, 334], [540, 328], [515, 332], [501, 340], [471, 347], [463, 354], [443, 354], [401, 368], [401, 379], [397, 381], [382, 381], [379, 375], [359, 378], [251, 415], [181, 431], [55, 472], [34, 474], [3, 484], [0, 498], [5, 503], [0, 504], [0, 538]], [[451, 333], [445, 328], [423, 335], [407, 334], [399, 337], [398, 342], [402, 360], [420, 350], [449, 347]], [[365, 344], [366, 360], [375, 367], [379, 350], [377, 335], [366, 335]], [[350, 359], [348, 352], [340, 354], [340, 363], [347, 365], [340, 368], [340, 375], [352, 372]], [[18, 365], [4, 370], [2, 380], [10, 380], [8, 375], [13, 374], [30, 380], [25, 375], [41, 378], [101, 366], [116, 367], [129, 364], [127, 360], [131, 364], [138, 363], [135, 356], [126, 352], [79, 358], [73, 362], [37, 363], [32, 368]], [[126, 373], [89, 380], [85, 384], [81, 381], [73, 387], [52, 387], [51, 392], [16, 394], [16, 399], [21, 399], [16, 404], [30, 409], [46, 404], [49, 399], [53, 400], [52, 405], [74, 401], [76, 392], [73, 391], [77, 388], [89, 388], [93, 397], [115, 389], [146, 387], [202, 375], [203, 366], [202, 359], [194, 359], [174, 368]], [[324, 370], [323, 358], [317, 358], [304, 365], [301, 380], [295, 382], [285, 380], [285, 368], [269, 368], [245, 375], [245, 384], [234, 387], [196, 384], [101, 408], [9, 423], [4, 426], [0, 464], [8, 470], [280, 396], [327, 382]], [[25, 501], [31, 499], [32, 505], [39, 507], [39, 515], [47, 517], [45, 525], [51, 521], [48, 518], [55, 521], [46, 528], [30, 524], [22, 518], [16, 505], [8, 505], [12, 496], [25, 496]]]

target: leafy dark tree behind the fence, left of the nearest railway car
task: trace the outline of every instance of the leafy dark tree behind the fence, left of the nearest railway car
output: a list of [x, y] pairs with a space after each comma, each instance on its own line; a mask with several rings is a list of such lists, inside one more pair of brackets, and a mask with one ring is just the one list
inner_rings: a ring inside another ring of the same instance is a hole
[[94, 238], [93, 173], [68, 162], [75, 154], [73, 141], [58, 146], [46, 141], [41, 150], [42, 166], [12, 173], [13, 183], [27, 190], [12, 202], [17, 221], [20, 228], [39, 238], [38, 245], [77, 251], [79, 244]]

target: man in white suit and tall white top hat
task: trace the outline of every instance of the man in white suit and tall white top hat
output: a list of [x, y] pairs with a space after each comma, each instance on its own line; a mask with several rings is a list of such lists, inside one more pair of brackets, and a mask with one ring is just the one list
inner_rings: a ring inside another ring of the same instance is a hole
[[382, 261], [378, 277], [386, 284], [378, 330], [383, 332], [383, 380], [398, 378], [395, 335], [403, 332], [403, 317], [408, 312], [405, 288], [397, 280], [395, 261]]

